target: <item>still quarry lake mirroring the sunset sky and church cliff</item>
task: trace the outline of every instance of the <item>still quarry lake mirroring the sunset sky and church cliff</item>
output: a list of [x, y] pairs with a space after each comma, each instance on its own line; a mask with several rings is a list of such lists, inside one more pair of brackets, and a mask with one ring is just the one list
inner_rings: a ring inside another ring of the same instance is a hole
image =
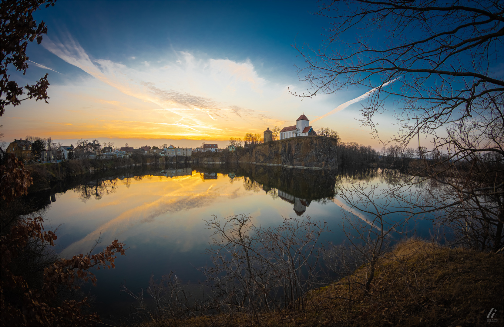
[[[308, 215], [328, 223], [330, 232], [322, 235], [323, 242], [340, 244], [346, 239], [342, 215], [349, 210], [341, 186], [352, 181], [380, 187], [388, 183], [379, 168], [216, 167], [150, 165], [95, 172], [29, 199], [46, 219], [44, 226], [57, 228], [56, 247], [62, 257], [88, 253], [99, 238], [99, 251], [114, 239], [129, 248], [117, 257], [115, 269], [94, 272], [97, 287], [83, 288], [95, 296], [94, 309], [107, 318], [133, 303], [121, 285], [138, 293], [147, 288], [151, 276], [159, 279], [171, 271], [184, 282], [203, 281], [198, 269], [211, 264], [205, 249], [212, 234], [204, 220], [212, 215], [248, 214], [262, 226]], [[356, 219], [366, 221], [365, 215]], [[430, 220], [416, 220], [408, 227], [411, 232], [400, 237], [414, 233], [430, 239], [434, 233]]]

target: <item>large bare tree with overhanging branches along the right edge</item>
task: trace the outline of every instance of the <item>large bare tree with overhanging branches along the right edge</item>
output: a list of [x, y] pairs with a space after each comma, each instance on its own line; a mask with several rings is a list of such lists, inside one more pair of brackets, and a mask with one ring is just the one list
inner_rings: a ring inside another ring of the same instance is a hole
[[[504, 222], [504, 80], [494, 73], [503, 61], [502, 13], [498, 1], [325, 5], [316, 14], [333, 20], [328, 39], [316, 49], [298, 48], [306, 62], [299, 72], [312, 89], [293, 93], [365, 87], [361, 124], [386, 145], [415, 144], [422, 167], [413, 173], [431, 180], [418, 190], [421, 197], [405, 201], [405, 211], [431, 212], [456, 228], [460, 241], [491, 251], [502, 248]], [[390, 98], [399, 129], [383, 139], [375, 121]], [[432, 139], [430, 151], [420, 137]], [[387, 154], [397, 157], [396, 150]], [[388, 196], [400, 199], [405, 186]]]

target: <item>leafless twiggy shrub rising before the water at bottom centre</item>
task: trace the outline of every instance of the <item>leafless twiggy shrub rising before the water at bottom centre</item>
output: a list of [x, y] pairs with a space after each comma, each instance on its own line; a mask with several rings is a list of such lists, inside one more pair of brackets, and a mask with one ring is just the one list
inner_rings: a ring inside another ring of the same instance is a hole
[[125, 289], [139, 301], [140, 315], [163, 321], [220, 313], [258, 321], [265, 312], [305, 308], [308, 290], [321, 285], [319, 240], [328, 230], [325, 221], [291, 217], [265, 228], [247, 215], [234, 215], [222, 220], [213, 216], [206, 225], [213, 231], [207, 249], [212, 264], [203, 269], [207, 280], [200, 292], [206, 296], [195, 298], [170, 273], [160, 283], [151, 279], [147, 292], [156, 304], [154, 310], [143, 292], [136, 295]]

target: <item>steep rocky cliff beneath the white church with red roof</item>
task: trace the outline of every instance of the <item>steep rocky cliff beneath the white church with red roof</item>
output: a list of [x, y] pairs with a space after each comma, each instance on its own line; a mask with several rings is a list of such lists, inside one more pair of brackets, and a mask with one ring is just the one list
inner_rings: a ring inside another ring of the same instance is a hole
[[336, 140], [324, 136], [293, 137], [259, 144], [238, 156], [238, 162], [303, 169], [336, 169]]

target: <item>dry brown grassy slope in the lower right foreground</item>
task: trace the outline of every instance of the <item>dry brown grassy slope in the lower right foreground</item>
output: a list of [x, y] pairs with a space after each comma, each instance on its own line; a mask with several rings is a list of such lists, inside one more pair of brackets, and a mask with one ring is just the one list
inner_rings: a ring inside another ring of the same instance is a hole
[[[364, 270], [311, 291], [305, 310], [151, 320], [144, 326], [501, 326], [502, 254], [409, 240], [380, 260], [369, 293]], [[494, 319], [488, 312], [497, 309]]]

